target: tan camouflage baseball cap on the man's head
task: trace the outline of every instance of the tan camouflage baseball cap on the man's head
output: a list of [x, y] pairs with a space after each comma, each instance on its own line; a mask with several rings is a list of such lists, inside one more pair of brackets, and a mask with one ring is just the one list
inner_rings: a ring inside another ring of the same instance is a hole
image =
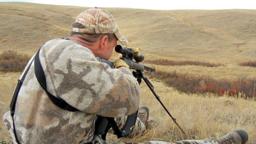
[[84, 34], [114, 34], [122, 44], [128, 45], [128, 40], [119, 32], [114, 17], [106, 10], [90, 8], [79, 14], [76, 22], [82, 24], [84, 28], [73, 27], [73, 32]]

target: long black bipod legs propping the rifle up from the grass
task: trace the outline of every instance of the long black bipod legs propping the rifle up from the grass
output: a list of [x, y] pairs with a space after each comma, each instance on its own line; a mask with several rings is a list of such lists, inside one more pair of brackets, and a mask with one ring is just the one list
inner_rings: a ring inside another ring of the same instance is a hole
[[180, 125], [178, 124], [178, 122], [176, 122], [176, 118], [174, 118], [170, 112], [166, 109], [166, 107], [164, 106], [164, 104], [162, 103], [162, 101], [160, 100], [160, 97], [156, 94], [156, 92], [154, 91], [154, 86], [151, 84], [151, 82], [148, 80], [148, 78], [146, 78], [145, 74], [143, 71], [141, 70], [136, 70], [132, 72], [133, 76], [135, 78], [137, 78], [138, 83], [141, 83], [141, 79], [144, 80], [144, 82], [146, 82], [146, 84], [148, 85], [148, 88], [151, 90], [151, 92], [154, 94], [154, 96], [156, 97], [156, 99], [158, 100], [158, 102], [160, 102], [160, 104], [162, 105], [162, 107], [164, 108], [164, 110], [168, 113], [168, 115], [172, 118], [173, 122], [180, 128], [181, 132], [183, 134], [186, 135], [186, 133], [184, 132], [184, 130], [182, 130], [182, 128], [180, 127]]

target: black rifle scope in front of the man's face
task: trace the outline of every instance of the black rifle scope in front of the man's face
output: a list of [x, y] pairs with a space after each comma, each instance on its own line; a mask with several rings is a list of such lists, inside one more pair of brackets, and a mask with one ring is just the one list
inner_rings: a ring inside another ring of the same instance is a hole
[[130, 60], [134, 59], [136, 62], [142, 62], [144, 60], [144, 55], [140, 52], [140, 56], [136, 56], [134, 51], [131, 48], [125, 48], [120, 45], [116, 45], [116, 52], [123, 55], [125, 58], [129, 58]]

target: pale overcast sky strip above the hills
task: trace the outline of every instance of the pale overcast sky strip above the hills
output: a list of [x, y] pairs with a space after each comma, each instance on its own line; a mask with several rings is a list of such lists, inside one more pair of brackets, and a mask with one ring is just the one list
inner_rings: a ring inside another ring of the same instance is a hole
[[0, 2], [33, 2], [40, 4], [84, 6], [84, 7], [114, 7], [142, 8], [153, 10], [178, 9], [254, 9], [256, 0], [0, 0]]

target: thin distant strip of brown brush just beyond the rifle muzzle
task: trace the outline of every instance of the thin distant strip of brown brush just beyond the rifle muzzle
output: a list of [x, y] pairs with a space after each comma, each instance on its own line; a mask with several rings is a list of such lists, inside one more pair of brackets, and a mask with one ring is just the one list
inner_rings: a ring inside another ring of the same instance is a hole
[[223, 66], [222, 64], [213, 64], [210, 62], [200, 62], [200, 61], [192, 61], [192, 60], [185, 60], [185, 61], [174, 61], [174, 60], [144, 60], [144, 62], [150, 64], [158, 64], [163, 66], [186, 66], [186, 65], [194, 65], [194, 66], [206, 66], [206, 67], [217, 67]]

